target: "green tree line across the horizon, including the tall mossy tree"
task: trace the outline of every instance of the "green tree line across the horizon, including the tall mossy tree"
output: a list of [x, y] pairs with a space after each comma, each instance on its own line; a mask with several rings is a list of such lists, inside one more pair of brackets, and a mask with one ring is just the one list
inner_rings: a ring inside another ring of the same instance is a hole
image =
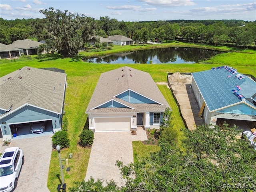
[[91, 36], [123, 35], [137, 44], [148, 40], [161, 42], [177, 38], [186, 42], [235, 46], [256, 46], [256, 21], [243, 20], [168, 20], [148, 22], [118, 21], [109, 16], [94, 18], [49, 8], [40, 10], [43, 19], [4, 20], [0, 18], [0, 41], [11, 44], [16, 40], [30, 38], [45, 40], [64, 56], [78, 54], [79, 48], [90, 42]]

